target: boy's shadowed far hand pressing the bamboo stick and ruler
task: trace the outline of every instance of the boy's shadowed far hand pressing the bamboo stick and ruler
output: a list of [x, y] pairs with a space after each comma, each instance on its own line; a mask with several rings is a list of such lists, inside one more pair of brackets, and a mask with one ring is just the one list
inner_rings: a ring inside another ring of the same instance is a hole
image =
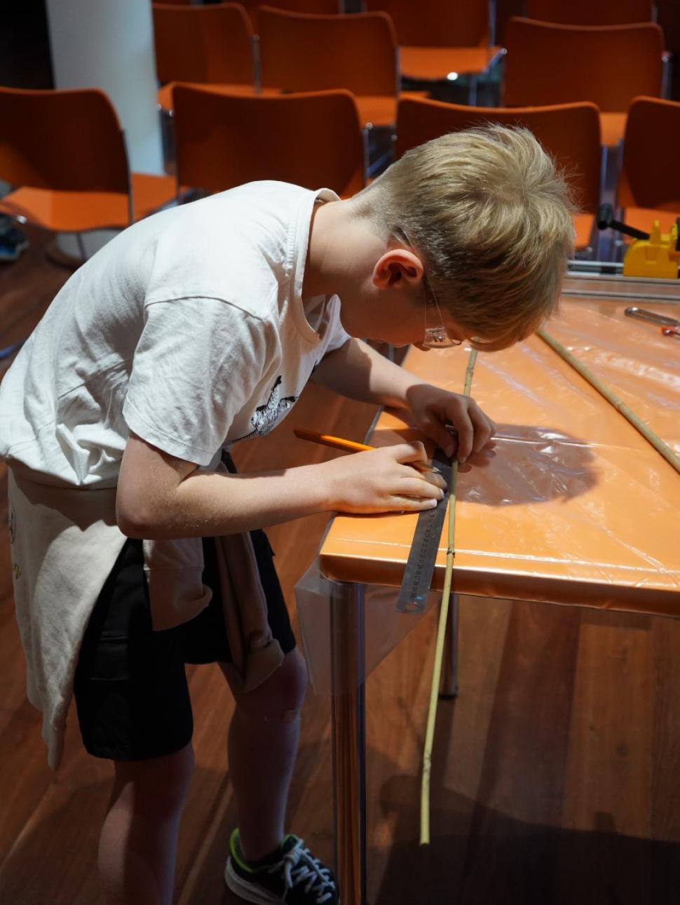
[[447, 424], [458, 432], [458, 462], [479, 452], [496, 433], [496, 424], [474, 399], [431, 384], [417, 384], [408, 391], [408, 403], [415, 426], [431, 437], [448, 456], [456, 452], [456, 438]]

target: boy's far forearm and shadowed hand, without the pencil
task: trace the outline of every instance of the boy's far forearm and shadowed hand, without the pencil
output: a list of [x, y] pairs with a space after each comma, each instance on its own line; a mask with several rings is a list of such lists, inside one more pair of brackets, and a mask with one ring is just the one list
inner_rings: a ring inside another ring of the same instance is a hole
[[361, 339], [349, 339], [329, 352], [316, 368], [314, 380], [359, 402], [408, 410], [420, 431], [449, 455], [456, 446], [445, 425], [452, 424], [458, 432], [459, 462], [483, 449], [496, 432], [496, 424], [474, 399], [428, 384]]

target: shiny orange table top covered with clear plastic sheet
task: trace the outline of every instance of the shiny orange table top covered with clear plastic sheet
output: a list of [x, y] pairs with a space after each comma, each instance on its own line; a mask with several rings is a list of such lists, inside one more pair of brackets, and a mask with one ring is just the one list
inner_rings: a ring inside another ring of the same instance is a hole
[[[563, 299], [548, 332], [680, 454], [680, 341], [629, 305], [680, 319], [680, 287], [676, 305]], [[412, 348], [404, 367], [462, 392], [467, 357]], [[480, 354], [472, 395], [498, 433], [495, 455], [458, 474], [454, 590], [680, 615], [680, 474], [538, 337]], [[417, 435], [387, 411], [369, 442]], [[398, 586], [416, 519], [336, 517], [322, 572]], [[444, 534], [434, 587], [445, 559]]]

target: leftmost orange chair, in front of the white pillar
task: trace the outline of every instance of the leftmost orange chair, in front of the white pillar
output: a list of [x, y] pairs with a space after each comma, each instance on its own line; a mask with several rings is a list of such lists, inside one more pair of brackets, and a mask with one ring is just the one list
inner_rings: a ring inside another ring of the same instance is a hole
[[60, 233], [123, 229], [175, 198], [170, 176], [130, 173], [116, 110], [96, 88], [0, 88], [0, 213]]

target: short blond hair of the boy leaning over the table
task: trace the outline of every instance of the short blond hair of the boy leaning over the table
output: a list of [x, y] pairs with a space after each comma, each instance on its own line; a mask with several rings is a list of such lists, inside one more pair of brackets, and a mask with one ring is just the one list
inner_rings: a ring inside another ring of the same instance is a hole
[[573, 205], [528, 129], [493, 124], [434, 138], [357, 198], [379, 228], [413, 243], [440, 307], [480, 338], [477, 348], [512, 345], [556, 307]]

